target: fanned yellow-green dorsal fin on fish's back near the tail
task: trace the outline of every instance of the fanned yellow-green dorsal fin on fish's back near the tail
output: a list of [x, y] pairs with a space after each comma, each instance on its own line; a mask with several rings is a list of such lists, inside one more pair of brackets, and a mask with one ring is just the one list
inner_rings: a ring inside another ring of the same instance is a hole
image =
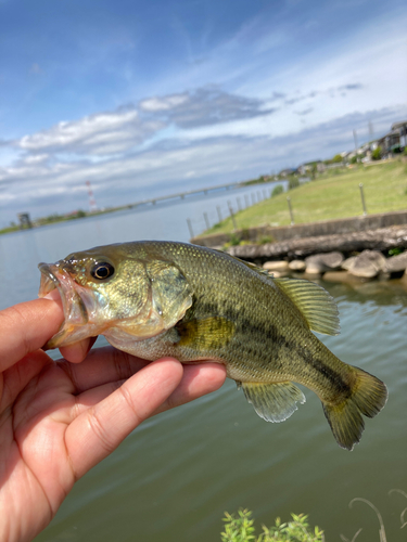
[[339, 335], [341, 327], [336, 304], [326, 289], [303, 279], [274, 279], [305, 318], [314, 332]]

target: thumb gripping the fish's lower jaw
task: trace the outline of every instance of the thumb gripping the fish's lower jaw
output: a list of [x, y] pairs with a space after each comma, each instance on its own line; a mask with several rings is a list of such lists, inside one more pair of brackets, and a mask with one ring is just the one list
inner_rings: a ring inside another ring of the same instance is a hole
[[0, 371], [41, 348], [64, 320], [62, 306], [35, 299], [0, 311]]

